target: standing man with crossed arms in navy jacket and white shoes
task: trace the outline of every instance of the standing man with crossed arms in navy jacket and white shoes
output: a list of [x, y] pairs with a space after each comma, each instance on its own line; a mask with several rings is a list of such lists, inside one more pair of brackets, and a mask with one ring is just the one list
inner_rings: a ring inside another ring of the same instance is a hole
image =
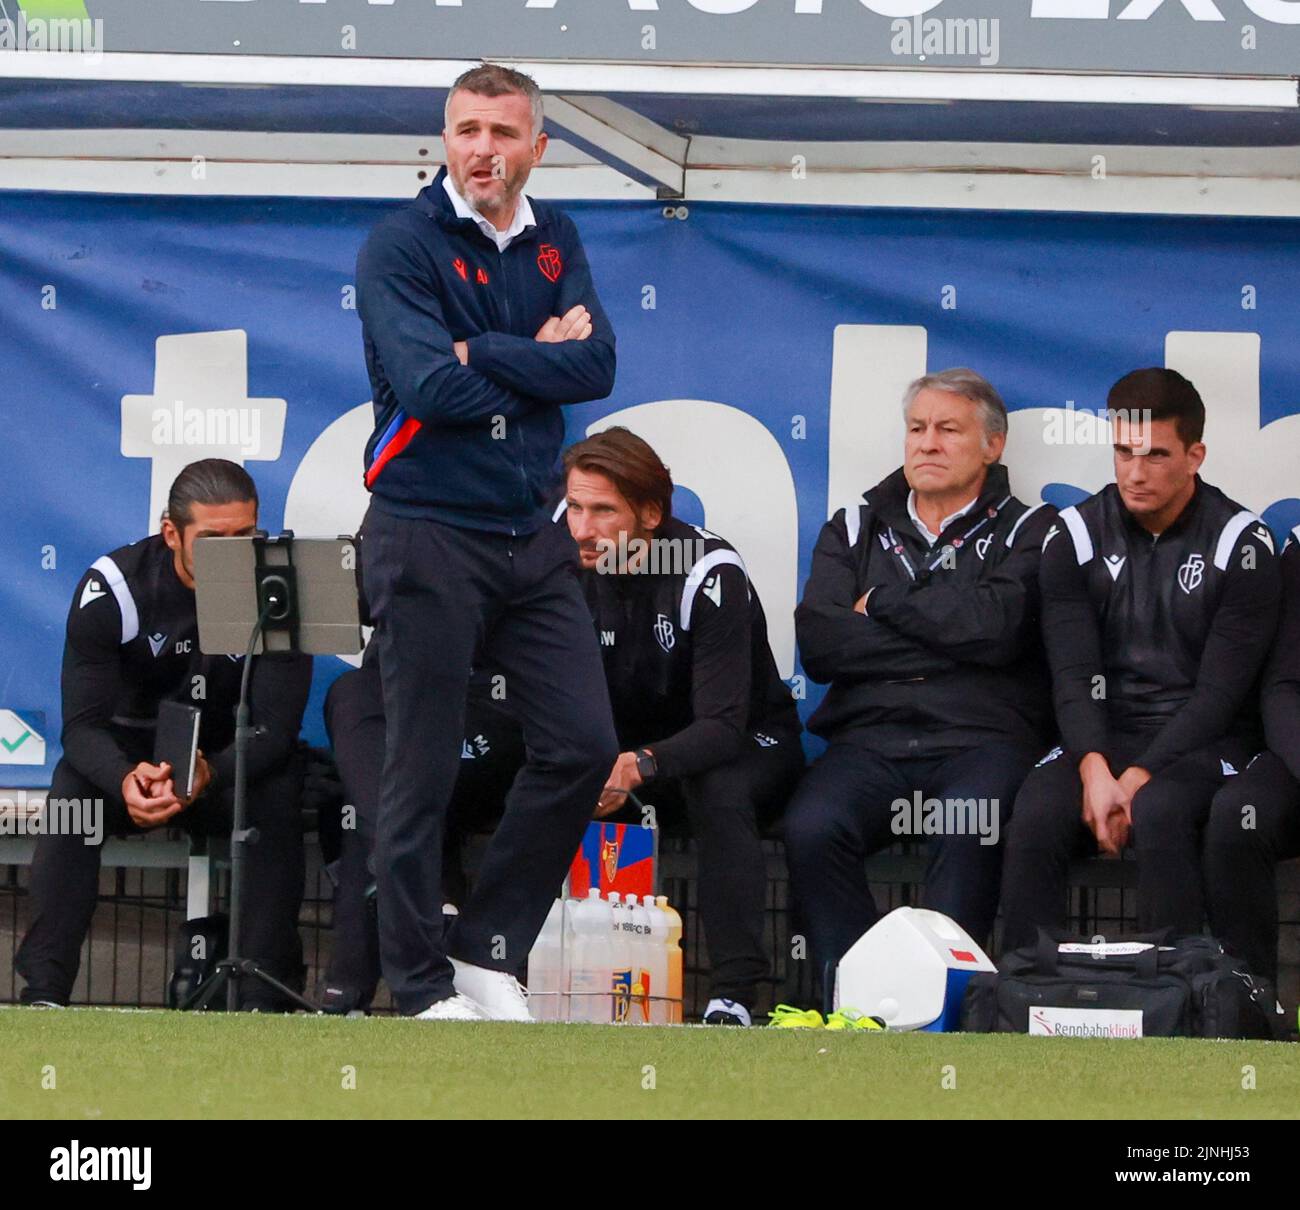
[[[545, 525], [560, 404], [614, 386], [614, 331], [572, 220], [524, 196], [542, 97], [495, 65], [447, 95], [447, 164], [358, 257], [374, 400], [361, 526], [387, 724], [380, 950], [398, 1010], [528, 1020], [530, 949], [618, 755], [572, 539]], [[520, 771], [442, 936], [442, 841], [471, 665], [502, 669]]]

